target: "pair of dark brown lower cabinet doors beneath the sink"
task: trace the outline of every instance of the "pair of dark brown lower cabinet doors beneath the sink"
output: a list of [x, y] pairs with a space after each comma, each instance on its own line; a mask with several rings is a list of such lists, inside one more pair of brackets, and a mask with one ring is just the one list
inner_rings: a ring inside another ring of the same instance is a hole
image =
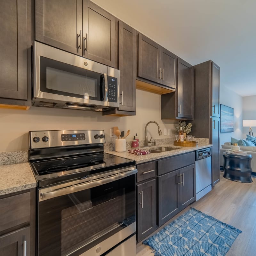
[[158, 226], [196, 200], [195, 164], [157, 177]]

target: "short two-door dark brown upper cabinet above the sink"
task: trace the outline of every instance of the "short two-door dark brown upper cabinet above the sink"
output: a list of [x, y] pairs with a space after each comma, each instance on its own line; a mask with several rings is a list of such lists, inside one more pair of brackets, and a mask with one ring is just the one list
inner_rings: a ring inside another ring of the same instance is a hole
[[148, 37], [138, 35], [138, 77], [176, 88], [177, 56]]

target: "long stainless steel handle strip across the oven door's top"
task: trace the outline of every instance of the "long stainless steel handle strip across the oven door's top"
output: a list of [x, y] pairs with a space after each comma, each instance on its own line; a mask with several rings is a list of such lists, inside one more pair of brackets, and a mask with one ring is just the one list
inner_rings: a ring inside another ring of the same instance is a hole
[[[123, 179], [125, 177], [128, 177], [128, 176], [138, 172], [137, 169], [124, 171], [124, 172], [121, 172], [121, 171], [120, 171], [120, 173], [111, 175], [111, 177], [105, 176], [105, 177], [99, 178], [97, 180], [93, 180], [93, 178], [91, 178], [91, 180], [84, 182], [82, 184], [77, 184], [77, 185], [73, 184], [73, 185], [68, 186], [68, 184], [66, 183], [66, 184], [63, 184], [63, 188], [58, 188], [58, 189], [50, 191], [50, 192], [43, 193], [39, 190], [38, 200], [39, 200], [39, 202], [41, 202], [41, 201], [48, 200], [48, 199], [51, 199], [51, 198], [54, 198], [57, 196], [64, 196], [64, 195], [75, 193], [75, 192], [78, 192], [81, 190], [98, 187], [100, 185], [103, 185], [103, 184], [106, 184], [106, 183], [109, 183], [109, 182], [112, 182], [115, 180]], [[44, 189], [42, 189], [42, 190], [44, 190]]]

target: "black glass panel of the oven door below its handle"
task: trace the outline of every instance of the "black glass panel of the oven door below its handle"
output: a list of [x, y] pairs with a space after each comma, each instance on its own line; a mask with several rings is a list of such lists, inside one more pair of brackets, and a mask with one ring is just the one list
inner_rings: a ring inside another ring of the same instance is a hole
[[38, 255], [80, 255], [135, 222], [135, 174], [39, 202]]

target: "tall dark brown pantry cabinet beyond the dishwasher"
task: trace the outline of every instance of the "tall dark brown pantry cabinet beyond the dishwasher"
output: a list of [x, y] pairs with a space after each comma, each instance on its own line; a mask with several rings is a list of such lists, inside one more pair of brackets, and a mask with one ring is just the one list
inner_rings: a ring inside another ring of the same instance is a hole
[[196, 138], [212, 144], [212, 186], [220, 181], [220, 67], [212, 60], [194, 66], [194, 120]]

